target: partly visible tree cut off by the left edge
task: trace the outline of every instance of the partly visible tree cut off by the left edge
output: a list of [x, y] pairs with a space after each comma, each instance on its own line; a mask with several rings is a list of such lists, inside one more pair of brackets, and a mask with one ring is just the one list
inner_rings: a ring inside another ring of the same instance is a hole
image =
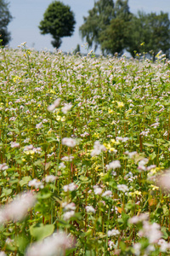
[[0, 0], [0, 39], [2, 45], [8, 44], [10, 41], [10, 33], [8, 32], [8, 23], [12, 20], [12, 15], [8, 10], [8, 3], [5, 0]]

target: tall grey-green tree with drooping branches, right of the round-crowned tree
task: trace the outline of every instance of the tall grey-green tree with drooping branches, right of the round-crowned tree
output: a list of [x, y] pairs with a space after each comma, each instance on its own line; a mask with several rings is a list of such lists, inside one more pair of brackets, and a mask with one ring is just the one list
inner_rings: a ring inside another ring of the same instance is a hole
[[94, 3], [94, 9], [84, 17], [80, 27], [82, 38], [86, 38], [88, 46], [97, 49], [98, 45], [103, 54], [122, 54], [126, 46], [126, 27], [132, 15], [129, 11], [128, 0], [99, 0]]

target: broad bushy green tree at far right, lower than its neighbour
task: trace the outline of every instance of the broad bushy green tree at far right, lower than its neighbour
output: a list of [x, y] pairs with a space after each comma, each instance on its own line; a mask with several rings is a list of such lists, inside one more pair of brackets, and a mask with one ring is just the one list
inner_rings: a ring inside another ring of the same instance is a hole
[[[133, 16], [128, 27], [129, 41], [127, 51], [131, 55], [135, 52], [143, 53], [152, 51], [153, 60], [160, 50], [170, 56], [170, 20], [168, 14], [161, 12], [144, 14], [139, 12]], [[141, 43], [144, 42], [144, 45]], [[134, 52], [135, 51], [135, 52]]]

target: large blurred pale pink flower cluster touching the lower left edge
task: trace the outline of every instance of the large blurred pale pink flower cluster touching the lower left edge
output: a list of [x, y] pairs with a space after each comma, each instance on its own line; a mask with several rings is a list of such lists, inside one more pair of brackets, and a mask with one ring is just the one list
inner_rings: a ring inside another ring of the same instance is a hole
[[26, 213], [36, 203], [36, 198], [31, 192], [18, 195], [14, 201], [8, 203], [0, 210], [0, 223], [19, 221], [26, 217]]

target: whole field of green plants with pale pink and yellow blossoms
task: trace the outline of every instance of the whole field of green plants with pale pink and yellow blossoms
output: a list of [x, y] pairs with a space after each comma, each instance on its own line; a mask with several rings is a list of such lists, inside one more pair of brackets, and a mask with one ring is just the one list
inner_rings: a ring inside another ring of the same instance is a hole
[[0, 63], [0, 255], [169, 255], [170, 61]]

